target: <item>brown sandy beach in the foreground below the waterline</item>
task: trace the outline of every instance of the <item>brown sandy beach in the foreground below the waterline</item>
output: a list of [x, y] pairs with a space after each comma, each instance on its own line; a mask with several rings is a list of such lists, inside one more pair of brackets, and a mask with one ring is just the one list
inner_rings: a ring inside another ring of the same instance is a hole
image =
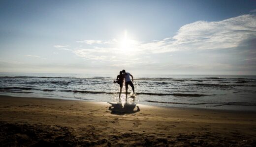
[[256, 147], [254, 112], [110, 106], [0, 96], [0, 146]]

